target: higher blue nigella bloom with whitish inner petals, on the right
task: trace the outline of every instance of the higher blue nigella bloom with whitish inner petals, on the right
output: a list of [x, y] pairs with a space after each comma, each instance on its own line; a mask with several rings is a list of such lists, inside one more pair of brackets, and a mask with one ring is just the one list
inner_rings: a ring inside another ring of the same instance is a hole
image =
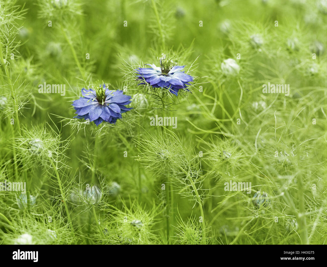
[[160, 58], [160, 67], [154, 64], [146, 64], [151, 68], [137, 68], [136, 77], [143, 81], [138, 85], [150, 85], [153, 88], [162, 88], [168, 90], [170, 93], [178, 96], [178, 91], [190, 91], [188, 86], [190, 82], [194, 81], [191, 75], [183, 71], [185, 66], [176, 66], [175, 62], [166, 58], [163, 55]]

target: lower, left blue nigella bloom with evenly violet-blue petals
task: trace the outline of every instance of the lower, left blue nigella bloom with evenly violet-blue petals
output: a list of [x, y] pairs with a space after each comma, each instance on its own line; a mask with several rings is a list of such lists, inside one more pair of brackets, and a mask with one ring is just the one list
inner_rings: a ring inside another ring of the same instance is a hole
[[95, 89], [82, 89], [83, 97], [73, 101], [77, 116], [74, 118], [89, 119], [98, 126], [101, 122], [116, 123], [122, 118], [122, 113], [131, 110], [128, 105], [130, 96], [120, 90], [109, 90], [105, 84], [97, 85]]

